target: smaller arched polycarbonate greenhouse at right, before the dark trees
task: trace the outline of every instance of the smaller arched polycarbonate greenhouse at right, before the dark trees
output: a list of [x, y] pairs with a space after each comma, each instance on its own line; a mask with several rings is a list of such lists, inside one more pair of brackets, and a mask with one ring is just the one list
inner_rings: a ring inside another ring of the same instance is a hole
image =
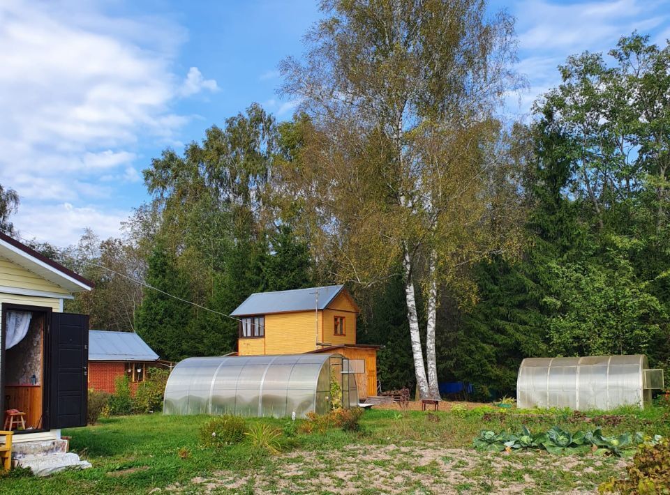
[[583, 411], [643, 407], [655, 388], [663, 388], [663, 370], [650, 370], [642, 355], [526, 358], [516, 380], [516, 405]]

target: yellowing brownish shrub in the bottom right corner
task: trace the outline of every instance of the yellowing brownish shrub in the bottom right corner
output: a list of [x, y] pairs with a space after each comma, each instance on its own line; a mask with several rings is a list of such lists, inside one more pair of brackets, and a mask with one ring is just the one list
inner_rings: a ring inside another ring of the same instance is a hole
[[611, 479], [600, 485], [600, 493], [670, 494], [670, 441], [641, 446], [627, 472], [626, 479]]

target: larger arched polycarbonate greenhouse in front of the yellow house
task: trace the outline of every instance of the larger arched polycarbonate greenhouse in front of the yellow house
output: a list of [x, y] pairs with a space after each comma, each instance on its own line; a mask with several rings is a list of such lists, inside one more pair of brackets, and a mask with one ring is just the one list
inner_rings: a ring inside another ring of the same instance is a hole
[[357, 406], [356, 380], [339, 354], [188, 358], [170, 373], [163, 412], [304, 418], [331, 409], [332, 381], [343, 407]]

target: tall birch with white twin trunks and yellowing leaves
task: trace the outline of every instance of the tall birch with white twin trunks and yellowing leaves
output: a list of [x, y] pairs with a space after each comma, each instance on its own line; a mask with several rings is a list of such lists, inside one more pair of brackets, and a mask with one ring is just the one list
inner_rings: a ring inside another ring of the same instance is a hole
[[[439, 397], [440, 291], [512, 252], [519, 213], [502, 97], [519, 83], [513, 23], [481, 0], [329, 0], [304, 59], [281, 64], [301, 146], [282, 170], [317, 259], [362, 287], [400, 275], [422, 397]], [[400, 269], [398, 269], [400, 267]], [[426, 360], [417, 291], [426, 300]]]

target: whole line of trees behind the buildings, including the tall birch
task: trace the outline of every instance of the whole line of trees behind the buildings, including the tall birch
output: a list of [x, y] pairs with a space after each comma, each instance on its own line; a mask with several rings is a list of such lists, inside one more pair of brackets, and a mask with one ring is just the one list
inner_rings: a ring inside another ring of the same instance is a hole
[[[570, 56], [509, 124], [521, 78], [504, 13], [322, 10], [305, 56], [281, 64], [292, 119], [252, 104], [165, 149], [121, 238], [34, 242], [96, 282], [68, 309], [179, 360], [234, 351], [225, 315], [255, 291], [345, 283], [386, 389], [512, 393], [532, 356], [646, 353], [669, 369], [670, 45], [632, 33]], [[11, 228], [18, 198], [0, 197]]]

